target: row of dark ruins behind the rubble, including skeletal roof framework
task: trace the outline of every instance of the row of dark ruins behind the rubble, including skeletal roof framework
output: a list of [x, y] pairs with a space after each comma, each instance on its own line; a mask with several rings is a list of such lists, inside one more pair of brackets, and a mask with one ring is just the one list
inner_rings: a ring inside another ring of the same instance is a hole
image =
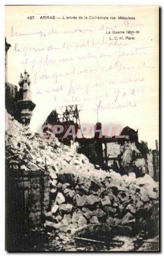
[[135, 172], [136, 177], [141, 177], [147, 173], [154, 180], [158, 180], [158, 150], [149, 149], [144, 141], [139, 142], [138, 130], [135, 131], [126, 126], [120, 133], [122, 138], [115, 138], [115, 136], [105, 138], [101, 131], [102, 124], [97, 122], [94, 126], [96, 132], [93, 138], [77, 136], [73, 138], [70, 135], [64, 139], [63, 136], [69, 125], [75, 125], [76, 134], [80, 127], [77, 105], [65, 106], [63, 115], [59, 115], [56, 109], [53, 110], [43, 124], [49, 125], [49, 128], [44, 131], [51, 136], [55, 124], [64, 126], [64, 131], [55, 136], [67, 145], [71, 144], [71, 140], [78, 142], [78, 153], [87, 156], [92, 164], [99, 165], [104, 170], [113, 169], [122, 175]]

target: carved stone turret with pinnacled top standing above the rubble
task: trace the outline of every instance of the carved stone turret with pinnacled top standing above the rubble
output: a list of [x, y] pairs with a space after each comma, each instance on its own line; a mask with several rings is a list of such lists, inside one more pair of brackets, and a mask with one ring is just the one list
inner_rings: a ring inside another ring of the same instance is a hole
[[32, 102], [29, 79], [29, 74], [25, 70], [24, 76], [20, 74], [20, 85], [19, 96], [17, 100], [17, 114], [16, 119], [23, 125], [28, 125], [32, 117], [32, 111], [35, 108], [35, 104]]

